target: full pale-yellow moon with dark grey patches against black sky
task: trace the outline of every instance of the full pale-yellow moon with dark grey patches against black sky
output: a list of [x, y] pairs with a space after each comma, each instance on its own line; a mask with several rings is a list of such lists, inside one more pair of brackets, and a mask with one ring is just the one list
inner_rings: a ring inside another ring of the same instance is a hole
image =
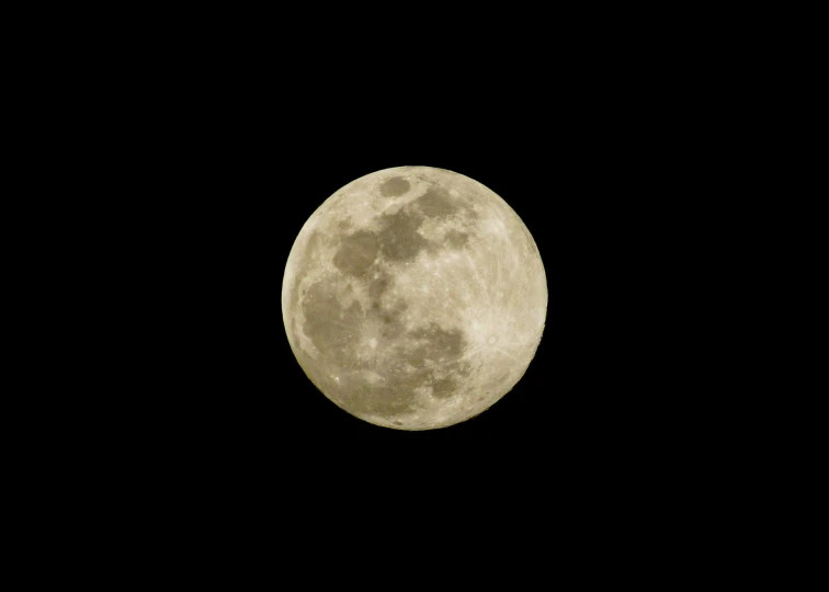
[[445, 428], [509, 392], [542, 338], [532, 235], [462, 174], [398, 167], [352, 181], [306, 221], [282, 286], [291, 348], [331, 401], [398, 430]]

